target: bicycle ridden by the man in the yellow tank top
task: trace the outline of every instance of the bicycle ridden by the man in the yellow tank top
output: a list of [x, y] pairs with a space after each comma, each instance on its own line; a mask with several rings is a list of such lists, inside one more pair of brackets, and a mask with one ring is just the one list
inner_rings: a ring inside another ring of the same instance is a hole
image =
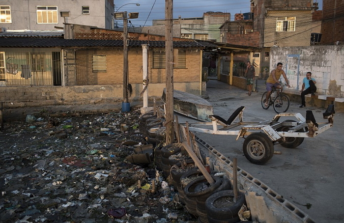
[[[283, 86], [287, 86], [287, 84], [283, 84]], [[272, 91], [269, 97], [269, 103], [267, 106], [265, 105], [266, 94], [267, 94], [267, 91], [265, 91], [263, 95], [261, 96], [261, 107], [263, 107], [263, 109], [266, 110], [270, 106], [273, 106], [275, 112], [278, 114], [282, 112], [287, 112], [290, 105], [289, 98], [287, 97], [287, 95], [282, 93], [281, 88], [278, 88], [278, 90], [276, 89], [276, 87], [272, 88]]]

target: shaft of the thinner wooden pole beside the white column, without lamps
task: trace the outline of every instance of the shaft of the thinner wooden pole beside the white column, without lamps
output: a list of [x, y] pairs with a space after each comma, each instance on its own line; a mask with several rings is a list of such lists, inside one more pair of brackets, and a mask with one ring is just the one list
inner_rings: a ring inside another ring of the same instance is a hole
[[128, 15], [123, 12], [123, 102], [128, 103]]

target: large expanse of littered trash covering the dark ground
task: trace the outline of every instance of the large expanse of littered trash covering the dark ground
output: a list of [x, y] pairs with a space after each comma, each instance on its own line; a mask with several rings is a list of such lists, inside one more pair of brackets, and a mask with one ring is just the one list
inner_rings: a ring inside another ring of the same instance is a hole
[[2, 223], [197, 222], [163, 171], [130, 162], [147, 144], [139, 110], [47, 116], [4, 123]]

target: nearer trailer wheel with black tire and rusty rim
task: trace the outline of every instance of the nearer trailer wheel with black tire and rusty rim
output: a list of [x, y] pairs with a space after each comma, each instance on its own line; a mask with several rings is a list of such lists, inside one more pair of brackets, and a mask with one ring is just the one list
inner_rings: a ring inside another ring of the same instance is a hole
[[243, 144], [244, 155], [253, 164], [265, 164], [274, 155], [274, 144], [264, 133], [249, 135]]

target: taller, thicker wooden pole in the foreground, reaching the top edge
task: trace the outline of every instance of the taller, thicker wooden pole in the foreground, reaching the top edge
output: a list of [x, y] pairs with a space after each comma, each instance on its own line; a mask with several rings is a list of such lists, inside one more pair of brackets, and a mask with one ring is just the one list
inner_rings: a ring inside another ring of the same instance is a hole
[[165, 0], [166, 143], [173, 142], [173, 0]]

